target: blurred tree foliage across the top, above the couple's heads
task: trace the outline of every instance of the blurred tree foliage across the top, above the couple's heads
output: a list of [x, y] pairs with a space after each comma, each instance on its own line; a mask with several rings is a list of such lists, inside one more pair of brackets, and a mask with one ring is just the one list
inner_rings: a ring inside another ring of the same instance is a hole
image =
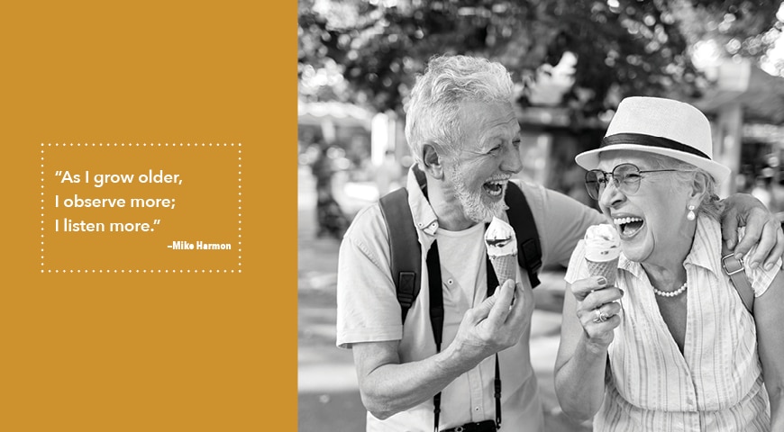
[[436, 54], [504, 64], [532, 104], [564, 53], [576, 58], [560, 101], [576, 115], [627, 94], [695, 97], [706, 84], [691, 48], [761, 58], [776, 40], [780, 0], [299, 0], [300, 94], [402, 111]]

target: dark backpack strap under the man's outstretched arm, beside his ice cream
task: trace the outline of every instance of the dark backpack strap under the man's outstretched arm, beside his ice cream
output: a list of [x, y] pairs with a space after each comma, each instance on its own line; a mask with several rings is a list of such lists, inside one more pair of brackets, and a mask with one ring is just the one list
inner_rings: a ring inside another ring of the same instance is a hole
[[513, 182], [506, 186], [506, 216], [509, 224], [515, 229], [517, 237], [517, 262], [528, 272], [531, 287], [536, 288], [539, 282], [539, 270], [542, 269], [542, 246], [539, 232], [533, 221], [533, 212], [520, 187]]

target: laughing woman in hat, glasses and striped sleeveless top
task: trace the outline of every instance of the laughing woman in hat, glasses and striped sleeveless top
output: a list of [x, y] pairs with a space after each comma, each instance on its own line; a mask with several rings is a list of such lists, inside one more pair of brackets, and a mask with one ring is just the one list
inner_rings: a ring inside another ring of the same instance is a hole
[[744, 307], [716, 220], [730, 170], [711, 155], [696, 108], [631, 97], [576, 157], [621, 248], [615, 286], [589, 274], [584, 242], [566, 275], [556, 393], [594, 430], [784, 430], [784, 276], [743, 266]]

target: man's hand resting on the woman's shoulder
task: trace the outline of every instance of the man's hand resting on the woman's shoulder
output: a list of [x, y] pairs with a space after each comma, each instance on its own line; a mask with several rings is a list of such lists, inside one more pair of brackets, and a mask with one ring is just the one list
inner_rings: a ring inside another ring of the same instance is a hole
[[[784, 232], [776, 216], [748, 193], [734, 193], [724, 200], [725, 211], [722, 214], [722, 238], [727, 248], [733, 249], [737, 258], [743, 258], [749, 250], [757, 245], [757, 250], [749, 259], [749, 265], [759, 266], [764, 262], [765, 268], [772, 267], [784, 253]], [[745, 227], [745, 234], [738, 243], [738, 227]], [[735, 247], [735, 244], [737, 246]]]

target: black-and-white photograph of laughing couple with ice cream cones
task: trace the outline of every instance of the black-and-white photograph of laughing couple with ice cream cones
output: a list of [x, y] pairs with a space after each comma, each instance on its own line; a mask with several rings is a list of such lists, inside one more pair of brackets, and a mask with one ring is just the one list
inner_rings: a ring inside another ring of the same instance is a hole
[[298, 430], [784, 432], [782, 3], [299, 0]]

